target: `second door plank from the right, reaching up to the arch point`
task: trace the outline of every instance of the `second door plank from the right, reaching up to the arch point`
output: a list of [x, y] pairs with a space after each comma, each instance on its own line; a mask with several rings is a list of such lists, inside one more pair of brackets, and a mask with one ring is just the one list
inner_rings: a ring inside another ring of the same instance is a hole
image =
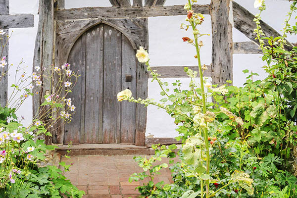
[[120, 143], [121, 33], [104, 25], [103, 143]]

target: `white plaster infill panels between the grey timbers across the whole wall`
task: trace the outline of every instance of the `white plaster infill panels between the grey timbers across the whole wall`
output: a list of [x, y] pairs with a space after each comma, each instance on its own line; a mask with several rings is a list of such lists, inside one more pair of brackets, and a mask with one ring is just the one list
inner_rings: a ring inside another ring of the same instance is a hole
[[[96, 2], [95, 2], [96, 1]], [[104, 2], [105, 1], [105, 2]], [[210, 0], [199, 0], [200, 4], [210, 3]], [[38, 2], [39, 0], [30, 0], [30, 3], [24, 3], [23, 0], [10, 0], [10, 14], [34, 14], [35, 27], [10, 29], [12, 38], [9, 43], [9, 63], [17, 65], [23, 58], [28, 73], [32, 72], [32, 61], [34, 53], [35, 38], [38, 26]], [[165, 5], [184, 4], [185, 0], [167, 0]], [[258, 10], [253, 8], [253, 0], [235, 0], [251, 13], [256, 14]], [[286, 18], [289, 9], [289, 2], [285, 0], [267, 0], [267, 11], [263, 12], [262, 19], [276, 30], [282, 29], [280, 24]], [[83, 7], [83, 6], [110, 6], [108, 0], [65, 0], [65, 8]], [[274, 16], [274, 17], [271, 17]], [[295, 15], [296, 16], [296, 15]], [[183, 43], [181, 38], [189, 35], [179, 29], [180, 23], [184, 23], [185, 16], [159, 16], [148, 18], [148, 35], [149, 35], [149, 51], [152, 66], [171, 67], [171, 66], [194, 66], [196, 59], [193, 58], [194, 52], [190, 45]], [[205, 23], [202, 25], [203, 32], [211, 33], [210, 16], [205, 15]], [[204, 29], [205, 28], [205, 29]], [[289, 37], [292, 43], [297, 43], [297, 36]], [[203, 38], [205, 47], [202, 49], [203, 63], [209, 65], [211, 63], [211, 36]], [[233, 42], [250, 42], [250, 40], [236, 28], [233, 28]], [[239, 49], [239, 48], [237, 48]], [[234, 85], [240, 86], [244, 83], [245, 75], [243, 69], [250, 69], [253, 72], [260, 73], [259, 78], [265, 75], [261, 69], [263, 65], [260, 54], [242, 54], [237, 50], [233, 54], [233, 76]], [[182, 68], [182, 67], [181, 67]], [[172, 71], [176, 68], [172, 68]], [[11, 70], [13, 71], [13, 70]], [[182, 71], [182, 70], [178, 70]], [[13, 73], [8, 78], [8, 82], [12, 83]], [[174, 73], [170, 73], [174, 76]], [[209, 73], [209, 76], [211, 74]], [[170, 76], [169, 76], [170, 77]], [[175, 78], [166, 78], [165, 81], [172, 83]], [[182, 83], [187, 85], [189, 79], [180, 78]], [[211, 78], [209, 78], [211, 81]], [[8, 92], [11, 89], [8, 89]], [[160, 99], [159, 88], [156, 83], [148, 80], [148, 96], [150, 98]], [[18, 111], [18, 115], [25, 116], [25, 123], [29, 123], [32, 117], [32, 100]], [[146, 136], [154, 137], [174, 137], [176, 126], [173, 119], [165, 112], [154, 107], [148, 107], [147, 116], [147, 133]]]

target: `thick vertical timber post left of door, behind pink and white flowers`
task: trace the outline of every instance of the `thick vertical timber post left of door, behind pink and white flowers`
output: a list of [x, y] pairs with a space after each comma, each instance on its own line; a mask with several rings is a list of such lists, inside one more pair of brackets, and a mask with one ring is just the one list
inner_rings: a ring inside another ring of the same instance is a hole
[[[35, 66], [40, 66], [40, 71], [43, 75], [49, 76], [50, 65], [53, 58], [53, 40], [54, 40], [54, 5], [53, 0], [39, 1], [39, 22], [37, 36], [35, 40], [35, 50], [33, 58], [33, 71]], [[37, 71], [36, 71], [37, 72]], [[42, 79], [42, 87], [35, 86], [33, 96], [33, 118], [38, 119], [39, 113], [46, 111], [46, 106], [39, 109], [40, 104], [44, 101], [44, 96], [50, 94], [50, 80]], [[45, 118], [44, 122], [49, 120]], [[46, 137], [46, 144], [51, 144], [51, 138]]]

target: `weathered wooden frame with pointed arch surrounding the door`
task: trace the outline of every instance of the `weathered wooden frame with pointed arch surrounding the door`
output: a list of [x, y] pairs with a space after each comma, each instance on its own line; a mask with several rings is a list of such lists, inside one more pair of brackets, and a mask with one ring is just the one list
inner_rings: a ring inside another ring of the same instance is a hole
[[[148, 19], [147, 18], [96, 18], [87, 20], [67, 20], [55, 22], [55, 64], [62, 65], [68, 61], [69, 53], [77, 39], [87, 30], [100, 23], [109, 25], [128, 38], [133, 49], [140, 46], [148, 49]], [[127, 28], [129, 27], [129, 28]], [[148, 73], [146, 66], [137, 63], [137, 88], [136, 98], [148, 97]], [[57, 144], [63, 144], [64, 127], [63, 121], [59, 123], [56, 131]], [[136, 104], [135, 145], [145, 146], [145, 133], [147, 126], [147, 108], [143, 104]]]

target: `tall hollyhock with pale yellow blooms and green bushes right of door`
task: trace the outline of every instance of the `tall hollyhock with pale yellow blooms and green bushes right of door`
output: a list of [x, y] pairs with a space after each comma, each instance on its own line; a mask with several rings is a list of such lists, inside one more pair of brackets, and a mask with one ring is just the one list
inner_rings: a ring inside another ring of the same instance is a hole
[[[182, 140], [178, 151], [180, 162], [171, 161], [173, 184], [154, 183], [166, 163], [162, 157], [175, 157], [176, 146], [154, 145], [155, 155], [136, 156], [135, 161], [144, 172], [134, 173], [129, 181], [149, 178], [137, 189], [142, 198], [295, 198], [297, 197], [297, 47], [290, 46], [287, 34], [296, 35], [297, 23], [290, 25], [297, 10], [297, 0], [291, 2], [282, 36], [266, 37], [261, 30], [260, 14], [264, 0], [255, 0], [260, 13], [255, 15], [254, 34], [263, 52], [267, 73], [264, 80], [253, 80], [258, 75], [247, 69], [243, 87], [211, 85], [203, 72], [208, 69], [200, 61], [207, 34], [200, 33], [204, 17], [192, 10], [197, 0], [188, 0], [187, 24], [181, 28], [193, 31], [193, 38], [184, 37], [195, 48], [198, 72], [185, 68], [191, 78], [189, 89], [182, 90], [176, 81], [172, 92], [168, 83], [160, 80], [149, 66], [148, 52], [140, 47], [137, 58], [146, 63], [152, 81], [156, 81], [164, 98], [134, 99], [130, 90], [118, 94], [118, 100], [156, 105], [175, 119]], [[293, 19], [294, 20], [294, 19]], [[296, 21], [296, 18], [295, 18]], [[197, 82], [197, 75], [199, 80]]]

